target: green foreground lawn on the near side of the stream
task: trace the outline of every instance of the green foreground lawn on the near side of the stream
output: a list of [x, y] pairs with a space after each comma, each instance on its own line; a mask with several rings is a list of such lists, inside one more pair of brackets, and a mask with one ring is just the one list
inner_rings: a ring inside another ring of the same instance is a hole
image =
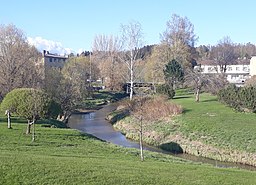
[[124, 149], [68, 129], [0, 123], [0, 184], [255, 184], [256, 172], [218, 169]]

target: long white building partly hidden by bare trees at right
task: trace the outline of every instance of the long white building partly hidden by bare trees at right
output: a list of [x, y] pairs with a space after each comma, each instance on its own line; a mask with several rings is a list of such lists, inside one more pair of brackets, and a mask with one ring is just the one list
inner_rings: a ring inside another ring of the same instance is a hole
[[[204, 74], [220, 74], [219, 65], [214, 64], [213, 60], [204, 60], [198, 66]], [[253, 72], [253, 73], [252, 73]], [[251, 76], [256, 75], [256, 57], [249, 59], [240, 59], [235, 65], [227, 65], [225, 76], [227, 81], [237, 86], [243, 86], [245, 81]]]

